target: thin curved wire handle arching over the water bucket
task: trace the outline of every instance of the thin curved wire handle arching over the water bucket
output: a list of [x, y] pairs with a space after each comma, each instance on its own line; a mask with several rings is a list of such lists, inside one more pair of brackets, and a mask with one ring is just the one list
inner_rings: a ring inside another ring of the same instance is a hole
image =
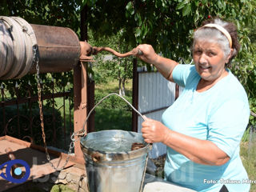
[[111, 94], [106, 95], [104, 98], [102, 98], [102, 99], [90, 110], [89, 114], [88, 114], [87, 117], [86, 117], [86, 121], [83, 123], [82, 130], [78, 130], [78, 131], [74, 132], [74, 134], [72, 134], [72, 136], [71, 136], [71, 140], [72, 140], [72, 141], [75, 141], [75, 140], [74, 140], [74, 136], [81, 136], [81, 137], [82, 137], [82, 136], [84, 136], [84, 135], [86, 134], [87, 130], [85, 129], [85, 127], [86, 127], [86, 122], [87, 122], [88, 119], [90, 118], [90, 114], [94, 111], [94, 109], [95, 109], [99, 104], [101, 104], [101, 102], [103, 102], [106, 98], [109, 98], [111, 95], [116, 95], [116, 96], [118, 96], [119, 98], [122, 98], [122, 100], [124, 100], [137, 114], [139, 114], [139, 115], [142, 117], [142, 119], [143, 119], [144, 121], [146, 121], [145, 117], [143, 117], [143, 115], [142, 115], [140, 112], [138, 112], [138, 110], [136, 110], [136, 109], [134, 108], [134, 106], [132, 106], [132, 105], [130, 104], [130, 102], [128, 102], [128, 101], [126, 100], [126, 98], [122, 97], [122, 95], [120, 95], [120, 94], [111, 93]]

